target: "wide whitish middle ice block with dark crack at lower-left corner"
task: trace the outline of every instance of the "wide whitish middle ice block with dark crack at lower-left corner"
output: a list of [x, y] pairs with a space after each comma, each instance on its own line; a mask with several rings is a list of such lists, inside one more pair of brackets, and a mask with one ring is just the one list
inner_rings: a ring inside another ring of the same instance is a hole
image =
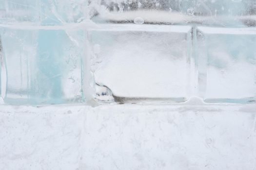
[[188, 100], [192, 27], [99, 24], [89, 41], [99, 102]]

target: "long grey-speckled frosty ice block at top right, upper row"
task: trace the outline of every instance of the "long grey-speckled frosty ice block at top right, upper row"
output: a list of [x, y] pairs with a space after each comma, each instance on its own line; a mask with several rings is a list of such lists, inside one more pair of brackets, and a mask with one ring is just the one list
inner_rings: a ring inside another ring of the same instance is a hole
[[89, 16], [95, 22], [200, 24], [243, 27], [256, 24], [255, 0], [91, 0]]

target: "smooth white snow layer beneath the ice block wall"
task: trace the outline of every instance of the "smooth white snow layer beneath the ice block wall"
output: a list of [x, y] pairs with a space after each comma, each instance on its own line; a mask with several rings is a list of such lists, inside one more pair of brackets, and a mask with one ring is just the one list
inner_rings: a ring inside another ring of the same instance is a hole
[[0, 109], [0, 170], [255, 168], [254, 104]]

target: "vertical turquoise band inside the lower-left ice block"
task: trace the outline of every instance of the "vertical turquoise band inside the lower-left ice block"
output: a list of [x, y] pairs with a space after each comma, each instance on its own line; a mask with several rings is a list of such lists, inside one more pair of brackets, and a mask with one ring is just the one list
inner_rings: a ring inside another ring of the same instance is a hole
[[[40, 30], [36, 55], [37, 73], [31, 81], [31, 96], [61, 103], [63, 99], [61, 75], [63, 74], [65, 40], [63, 30]], [[62, 69], [61, 69], [62, 68]]]

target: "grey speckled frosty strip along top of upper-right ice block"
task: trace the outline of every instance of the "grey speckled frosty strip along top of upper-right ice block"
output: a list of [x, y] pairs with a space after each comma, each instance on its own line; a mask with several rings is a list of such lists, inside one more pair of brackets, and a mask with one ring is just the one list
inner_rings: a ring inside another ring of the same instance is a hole
[[135, 10], [176, 11], [188, 15], [245, 15], [255, 13], [254, 0], [89, 0], [109, 12]]

